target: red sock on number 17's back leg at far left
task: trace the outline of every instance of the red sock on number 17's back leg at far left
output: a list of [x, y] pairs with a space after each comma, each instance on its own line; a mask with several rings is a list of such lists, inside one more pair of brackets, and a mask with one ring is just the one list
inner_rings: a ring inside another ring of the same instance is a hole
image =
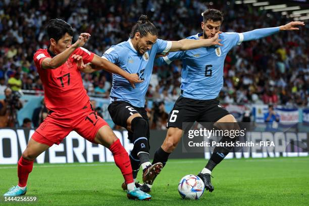
[[32, 171], [33, 161], [29, 161], [21, 157], [18, 161], [17, 174], [18, 174], [18, 186], [25, 187], [29, 173]]

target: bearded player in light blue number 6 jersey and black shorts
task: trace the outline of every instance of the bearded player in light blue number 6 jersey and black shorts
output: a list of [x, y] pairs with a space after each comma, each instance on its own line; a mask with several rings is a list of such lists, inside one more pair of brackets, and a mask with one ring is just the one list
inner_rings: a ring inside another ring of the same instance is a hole
[[[202, 33], [188, 39], [208, 39], [220, 31], [223, 14], [219, 10], [208, 9], [202, 13]], [[222, 127], [220, 123], [235, 123], [235, 118], [219, 105], [217, 96], [223, 86], [223, 66], [229, 50], [242, 41], [250, 41], [275, 34], [282, 30], [298, 30], [303, 22], [290, 22], [274, 28], [255, 29], [244, 33], [223, 32], [219, 34], [223, 46], [211, 46], [192, 50], [170, 53], [158, 58], [158, 65], [170, 64], [176, 59], [183, 62], [181, 78], [181, 96], [175, 102], [169, 115], [168, 132], [162, 146], [156, 151], [152, 164], [166, 164], [170, 153], [181, 139], [183, 122], [212, 122], [214, 126]], [[225, 125], [233, 127], [233, 124]], [[230, 128], [228, 128], [230, 129]], [[224, 136], [220, 142], [235, 141], [235, 138]], [[211, 183], [212, 170], [228, 155], [232, 147], [215, 147], [214, 152], [198, 176], [203, 180], [205, 189], [213, 191]]]

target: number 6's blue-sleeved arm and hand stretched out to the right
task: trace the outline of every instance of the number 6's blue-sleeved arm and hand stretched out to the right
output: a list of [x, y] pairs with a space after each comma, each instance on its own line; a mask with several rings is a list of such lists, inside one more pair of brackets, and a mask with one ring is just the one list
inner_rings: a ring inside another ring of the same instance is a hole
[[278, 27], [271, 27], [271, 28], [264, 28], [264, 29], [255, 29], [252, 31], [247, 31], [244, 33], [240, 33], [240, 42], [241, 41], [250, 41], [250, 40], [256, 40], [260, 39], [266, 36], [270, 36], [272, 34], [275, 34], [279, 31], [283, 30], [299, 30], [297, 26], [304, 26], [304, 22], [300, 21], [293, 21], [283, 26]]

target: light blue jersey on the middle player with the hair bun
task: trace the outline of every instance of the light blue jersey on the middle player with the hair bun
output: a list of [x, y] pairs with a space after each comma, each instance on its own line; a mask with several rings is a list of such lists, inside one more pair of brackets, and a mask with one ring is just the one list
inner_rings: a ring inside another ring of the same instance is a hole
[[171, 41], [157, 39], [150, 50], [140, 55], [133, 47], [131, 39], [109, 48], [102, 58], [116, 64], [128, 73], [138, 73], [142, 83], [135, 84], [135, 89], [128, 80], [120, 75], [113, 74], [113, 86], [111, 90], [111, 102], [115, 99], [129, 102], [135, 107], [145, 106], [145, 95], [152, 74], [153, 62], [156, 54], [166, 54], [172, 46]]

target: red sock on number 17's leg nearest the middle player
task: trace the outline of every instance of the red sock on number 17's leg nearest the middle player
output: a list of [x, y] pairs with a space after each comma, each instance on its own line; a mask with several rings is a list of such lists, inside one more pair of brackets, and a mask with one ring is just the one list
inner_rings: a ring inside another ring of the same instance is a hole
[[113, 153], [115, 163], [121, 170], [121, 173], [125, 179], [125, 183], [129, 184], [133, 182], [132, 167], [128, 152], [117, 139], [109, 148]]

